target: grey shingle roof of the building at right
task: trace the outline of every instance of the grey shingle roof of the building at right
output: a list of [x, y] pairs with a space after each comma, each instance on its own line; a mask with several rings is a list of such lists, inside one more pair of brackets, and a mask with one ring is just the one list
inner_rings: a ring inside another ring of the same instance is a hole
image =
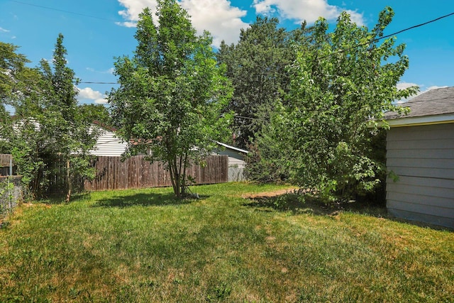
[[384, 119], [392, 120], [454, 114], [454, 87], [431, 89], [406, 101], [402, 104], [402, 107], [409, 107], [410, 113], [408, 115], [399, 115], [395, 111], [388, 111], [384, 114]]

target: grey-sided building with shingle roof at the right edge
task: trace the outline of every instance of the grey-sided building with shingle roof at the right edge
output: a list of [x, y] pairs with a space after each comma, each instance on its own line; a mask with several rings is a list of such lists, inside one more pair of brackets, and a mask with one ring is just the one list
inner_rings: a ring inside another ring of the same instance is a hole
[[385, 114], [387, 209], [404, 219], [454, 228], [454, 87], [433, 89]]

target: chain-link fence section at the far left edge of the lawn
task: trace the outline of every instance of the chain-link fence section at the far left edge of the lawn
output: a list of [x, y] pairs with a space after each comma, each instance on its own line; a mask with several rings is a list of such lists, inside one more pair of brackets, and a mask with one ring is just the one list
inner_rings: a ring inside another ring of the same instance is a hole
[[0, 216], [5, 216], [23, 201], [22, 176], [0, 176]]

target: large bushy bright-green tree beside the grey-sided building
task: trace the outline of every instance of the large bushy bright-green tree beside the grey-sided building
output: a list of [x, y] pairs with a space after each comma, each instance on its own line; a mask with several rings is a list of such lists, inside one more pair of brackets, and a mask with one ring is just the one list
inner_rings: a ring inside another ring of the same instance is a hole
[[287, 104], [272, 117], [281, 159], [292, 159], [292, 180], [326, 201], [354, 199], [380, 183], [384, 164], [372, 149], [378, 126], [370, 121], [382, 120], [384, 111], [396, 109], [395, 100], [417, 90], [396, 86], [409, 66], [404, 45], [379, 40], [392, 16], [384, 9], [371, 31], [347, 13], [331, 32], [319, 19], [307, 33], [309, 49], [299, 51], [289, 70]]

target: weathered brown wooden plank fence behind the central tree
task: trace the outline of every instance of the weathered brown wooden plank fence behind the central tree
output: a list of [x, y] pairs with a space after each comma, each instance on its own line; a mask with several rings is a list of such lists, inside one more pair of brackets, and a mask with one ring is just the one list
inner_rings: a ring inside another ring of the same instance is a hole
[[[228, 182], [228, 157], [210, 155], [205, 165], [192, 164], [187, 168], [187, 175], [196, 184], [214, 184]], [[172, 186], [170, 174], [162, 162], [150, 162], [145, 156], [137, 155], [122, 161], [121, 157], [96, 157], [92, 160], [96, 170], [94, 180], [79, 180], [74, 189], [101, 191], [115, 189], [138, 189], [147, 187]], [[61, 164], [61, 173], [50, 179], [50, 191], [61, 192], [65, 189], [65, 165]]]

